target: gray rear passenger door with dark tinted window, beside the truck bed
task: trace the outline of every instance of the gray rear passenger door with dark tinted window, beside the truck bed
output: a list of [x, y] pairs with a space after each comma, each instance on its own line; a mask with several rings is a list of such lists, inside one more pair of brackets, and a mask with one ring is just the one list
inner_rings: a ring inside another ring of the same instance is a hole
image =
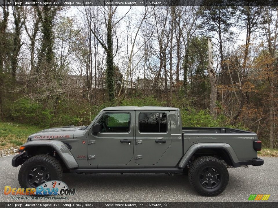
[[155, 165], [170, 145], [170, 112], [136, 111], [136, 164]]

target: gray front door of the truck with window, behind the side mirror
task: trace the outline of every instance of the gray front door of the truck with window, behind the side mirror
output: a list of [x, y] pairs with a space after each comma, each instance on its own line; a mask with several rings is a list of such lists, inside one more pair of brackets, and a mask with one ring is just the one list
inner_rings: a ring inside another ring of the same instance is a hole
[[88, 163], [126, 165], [133, 158], [134, 111], [104, 111], [96, 123], [100, 132], [89, 133]]

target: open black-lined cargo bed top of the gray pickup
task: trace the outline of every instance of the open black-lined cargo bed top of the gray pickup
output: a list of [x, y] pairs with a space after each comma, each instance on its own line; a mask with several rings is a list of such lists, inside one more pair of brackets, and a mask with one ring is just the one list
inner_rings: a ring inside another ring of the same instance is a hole
[[221, 128], [221, 127], [182, 127], [184, 134], [207, 134], [207, 133], [253, 133], [251, 131], [244, 131], [240, 129]]

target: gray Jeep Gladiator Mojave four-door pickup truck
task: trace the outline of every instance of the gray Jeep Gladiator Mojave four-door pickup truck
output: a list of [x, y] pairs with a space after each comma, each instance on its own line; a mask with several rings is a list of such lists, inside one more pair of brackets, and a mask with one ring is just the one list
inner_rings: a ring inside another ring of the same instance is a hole
[[231, 128], [184, 128], [173, 107], [107, 107], [89, 126], [64, 126], [28, 137], [12, 159], [21, 187], [61, 180], [63, 172], [188, 174], [204, 196], [227, 186], [227, 168], [261, 166], [261, 141]]

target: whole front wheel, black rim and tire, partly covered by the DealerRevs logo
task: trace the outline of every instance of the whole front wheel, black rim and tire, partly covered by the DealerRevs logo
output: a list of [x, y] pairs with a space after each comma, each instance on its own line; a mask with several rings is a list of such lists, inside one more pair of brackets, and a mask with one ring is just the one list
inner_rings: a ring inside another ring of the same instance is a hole
[[62, 166], [55, 157], [36, 155], [22, 164], [18, 181], [22, 188], [36, 188], [47, 181], [61, 181], [62, 173]]

